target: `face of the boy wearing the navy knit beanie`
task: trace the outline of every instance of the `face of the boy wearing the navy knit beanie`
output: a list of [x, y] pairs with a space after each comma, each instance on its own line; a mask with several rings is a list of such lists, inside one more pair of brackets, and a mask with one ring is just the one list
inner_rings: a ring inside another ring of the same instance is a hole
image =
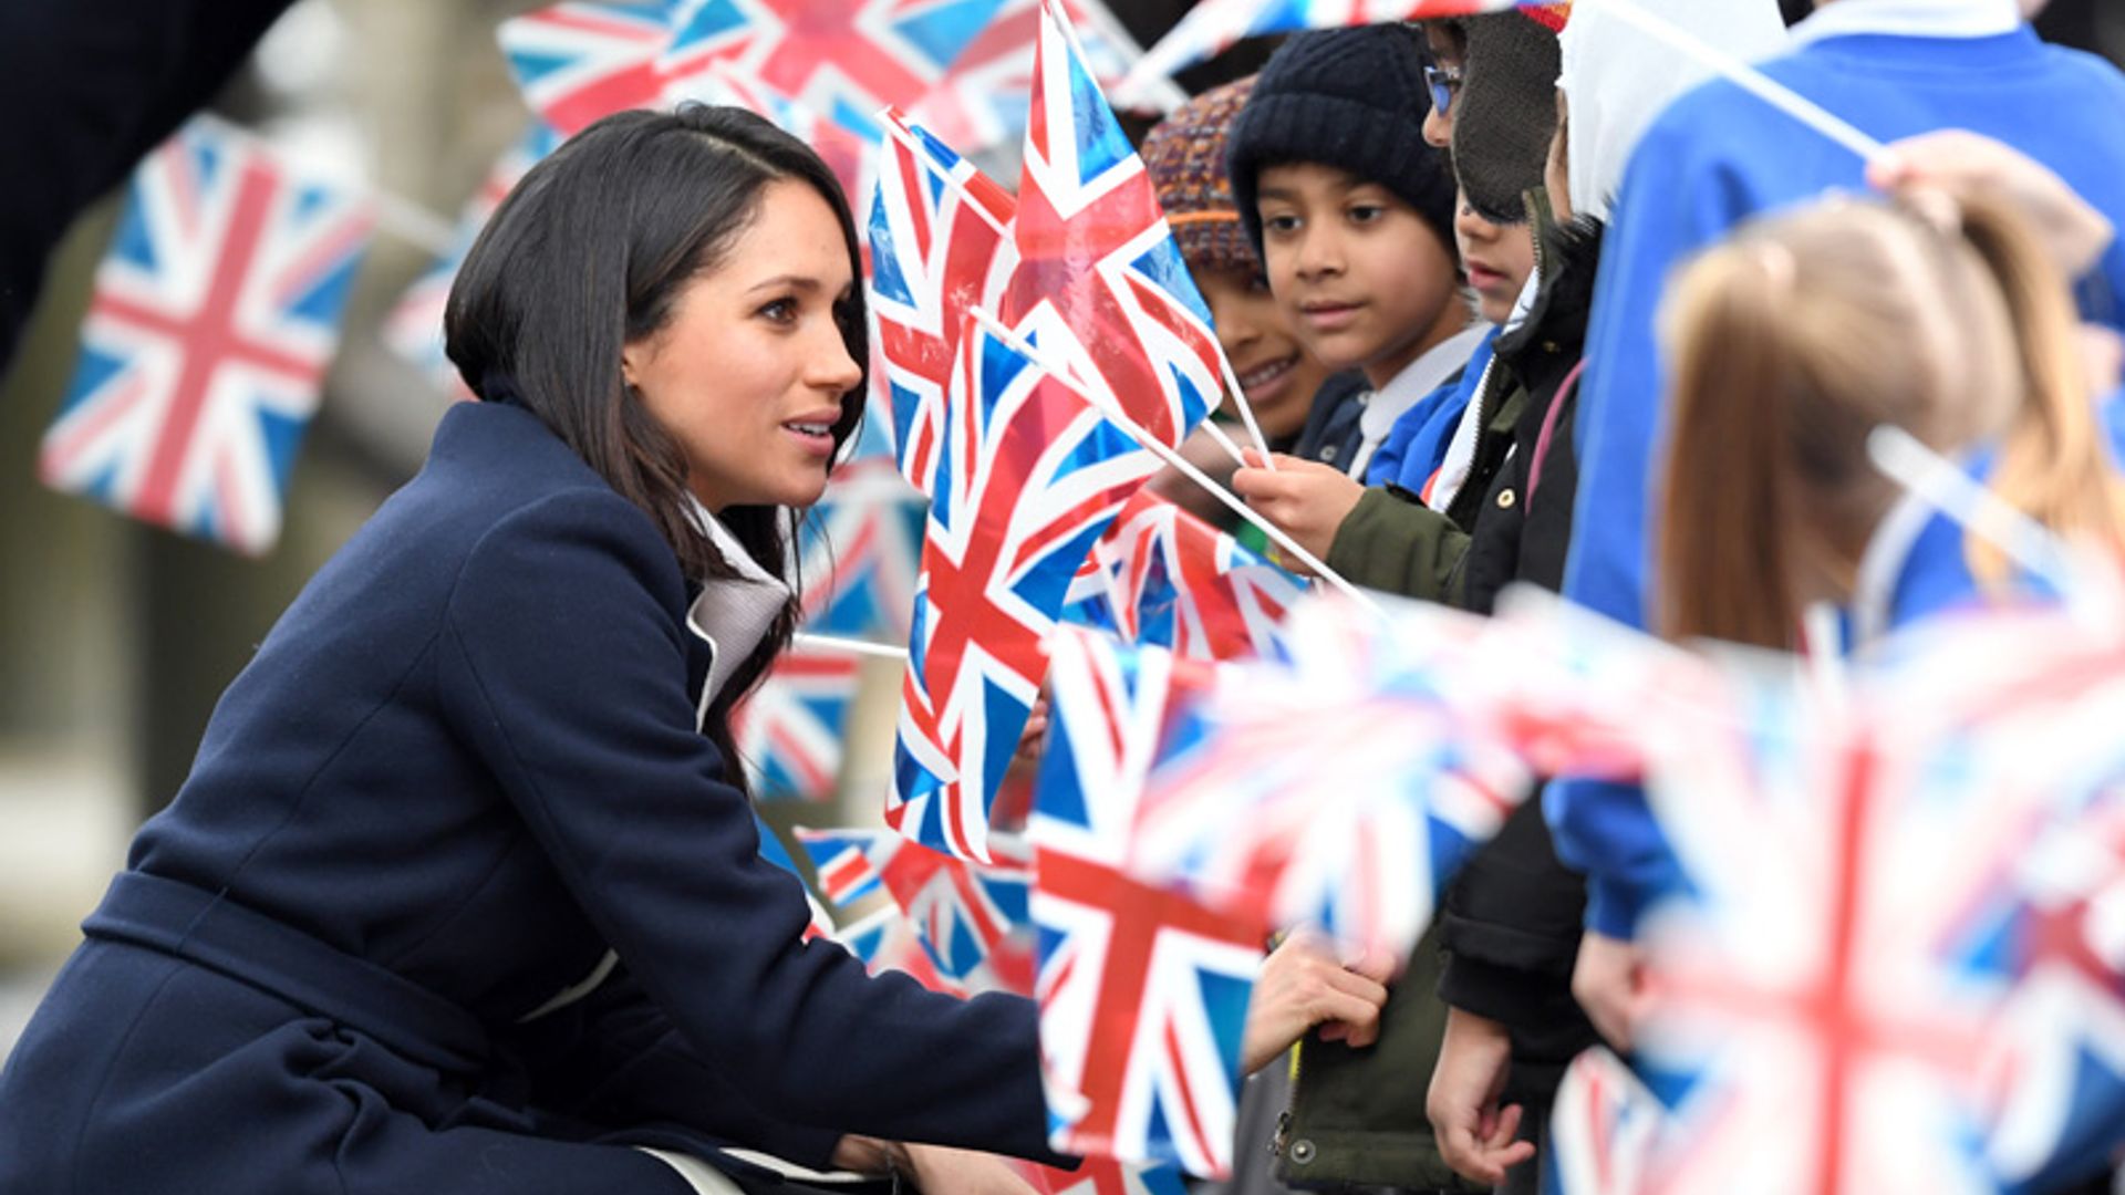
[[1381, 387], [1460, 327], [1454, 253], [1394, 191], [1347, 170], [1262, 170], [1256, 211], [1269, 287], [1330, 370]]

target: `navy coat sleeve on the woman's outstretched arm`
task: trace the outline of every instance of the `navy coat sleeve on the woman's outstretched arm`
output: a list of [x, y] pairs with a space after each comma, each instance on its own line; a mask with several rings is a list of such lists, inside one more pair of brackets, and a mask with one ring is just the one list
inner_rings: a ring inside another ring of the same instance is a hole
[[1052, 1157], [1033, 1002], [929, 993], [801, 942], [795, 876], [695, 729], [684, 589], [650, 521], [563, 491], [468, 555], [442, 700], [586, 916], [672, 1025], [761, 1112]]

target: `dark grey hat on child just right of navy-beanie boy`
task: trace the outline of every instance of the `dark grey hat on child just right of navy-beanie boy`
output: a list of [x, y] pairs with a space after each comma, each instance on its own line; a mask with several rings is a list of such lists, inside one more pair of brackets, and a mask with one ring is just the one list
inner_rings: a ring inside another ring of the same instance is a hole
[[1468, 51], [1454, 98], [1454, 174], [1492, 223], [1522, 223], [1522, 196], [1543, 185], [1558, 132], [1558, 34], [1522, 13], [1462, 21]]

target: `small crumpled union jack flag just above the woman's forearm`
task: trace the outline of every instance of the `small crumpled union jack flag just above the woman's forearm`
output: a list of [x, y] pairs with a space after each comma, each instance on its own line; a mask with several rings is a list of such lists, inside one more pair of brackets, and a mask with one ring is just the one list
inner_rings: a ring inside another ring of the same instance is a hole
[[[890, 829], [799, 829], [820, 891], [837, 908], [880, 887], [916, 927], [937, 974], [965, 991], [1031, 993], [1020, 929], [1028, 925], [1031, 859], [975, 865]], [[999, 859], [1005, 855], [999, 851]], [[1020, 942], [1014, 942], [1014, 933]], [[999, 972], [1020, 980], [1007, 982]]]

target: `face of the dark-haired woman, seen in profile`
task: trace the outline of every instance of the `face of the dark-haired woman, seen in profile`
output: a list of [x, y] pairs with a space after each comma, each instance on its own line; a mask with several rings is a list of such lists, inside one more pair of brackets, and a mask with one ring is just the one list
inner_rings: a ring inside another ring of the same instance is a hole
[[842, 395], [863, 376], [835, 319], [852, 287], [833, 208], [780, 179], [665, 327], [627, 344], [623, 372], [710, 510], [810, 506], [827, 489]]

